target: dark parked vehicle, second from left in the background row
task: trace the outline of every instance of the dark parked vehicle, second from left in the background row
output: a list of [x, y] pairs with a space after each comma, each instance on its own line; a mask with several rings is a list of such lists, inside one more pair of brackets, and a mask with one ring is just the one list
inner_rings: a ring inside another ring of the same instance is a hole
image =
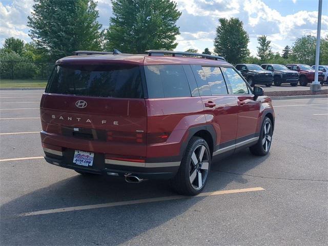
[[298, 72], [289, 70], [287, 67], [280, 64], [262, 64], [261, 67], [273, 72], [273, 83], [275, 86], [280, 86], [281, 84], [297, 86]]

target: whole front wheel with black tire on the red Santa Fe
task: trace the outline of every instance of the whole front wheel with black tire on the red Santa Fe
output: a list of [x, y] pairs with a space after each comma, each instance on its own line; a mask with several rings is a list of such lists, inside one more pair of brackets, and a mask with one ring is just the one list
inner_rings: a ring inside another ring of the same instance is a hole
[[[268, 132], [268, 124], [270, 124], [269, 132]], [[259, 139], [255, 145], [250, 147], [251, 153], [253, 155], [259, 155], [259, 156], [267, 155], [271, 147], [272, 134], [273, 134], [272, 122], [268, 117], [265, 117], [261, 126]]]

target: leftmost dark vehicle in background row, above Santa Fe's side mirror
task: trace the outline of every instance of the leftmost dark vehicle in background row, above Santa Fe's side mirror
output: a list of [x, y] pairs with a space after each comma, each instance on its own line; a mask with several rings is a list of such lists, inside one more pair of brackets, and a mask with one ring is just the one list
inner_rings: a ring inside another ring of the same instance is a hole
[[251, 87], [255, 84], [270, 87], [273, 81], [273, 73], [265, 71], [256, 64], [237, 64], [236, 69], [248, 81]]

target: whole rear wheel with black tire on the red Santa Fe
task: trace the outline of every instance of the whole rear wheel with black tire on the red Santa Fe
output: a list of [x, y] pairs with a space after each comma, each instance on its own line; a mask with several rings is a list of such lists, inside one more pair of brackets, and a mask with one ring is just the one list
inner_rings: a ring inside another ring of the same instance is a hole
[[[202, 160], [200, 160], [201, 151], [203, 151]], [[171, 186], [181, 195], [195, 196], [204, 189], [210, 169], [211, 152], [207, 142], [201, 137], [192, 137], [182, 157], [179, 171], [171, 179]]]

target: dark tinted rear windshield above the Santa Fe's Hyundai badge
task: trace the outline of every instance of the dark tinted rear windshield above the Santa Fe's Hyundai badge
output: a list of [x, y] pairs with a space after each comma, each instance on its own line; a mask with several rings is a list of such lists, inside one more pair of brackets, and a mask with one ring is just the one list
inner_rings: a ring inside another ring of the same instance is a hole
[[99, 97], [144, 97], [140, 67], [130, 65], [56, 66], [46, 92]]

